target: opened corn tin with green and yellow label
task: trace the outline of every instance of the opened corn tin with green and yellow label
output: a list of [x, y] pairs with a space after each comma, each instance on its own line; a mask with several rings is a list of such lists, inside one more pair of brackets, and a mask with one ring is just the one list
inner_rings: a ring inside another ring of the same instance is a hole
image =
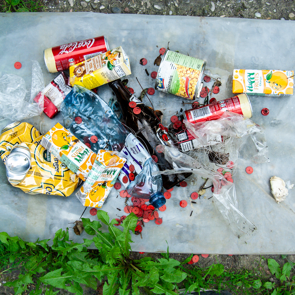
[[186, 99], [195, 99], [206, 61], [166, 50], [160, 63], [155, 89]]

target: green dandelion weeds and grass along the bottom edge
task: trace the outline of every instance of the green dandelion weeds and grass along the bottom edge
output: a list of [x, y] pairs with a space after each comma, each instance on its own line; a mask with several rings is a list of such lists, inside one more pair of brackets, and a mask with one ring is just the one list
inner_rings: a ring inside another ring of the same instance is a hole
[[[1, 232], [0, 276], [16, 269], [20, 271], [17, 279], [4, 285], [13, 287], [15, 294], [30, 295], [54, 295], [59, 292], [56, 288], [82, 295], [81, 284], [96, 290], [104, 281], [103, 295], [116, 292], [119, 295], [175, 295], [212, 288], [217, 291], [228, 289], [239, 295], [295, 294], [295, 277], [290, 280], [294, 267], [291, 261], [281, 268], [275, 260], [268, 259], [269, 270], [276, 278], [271, 282], [247, 270], [225, 271], [222, 264], [207, 268], [188, 267], [187, 262], [193, 254], [180, 262], [169, 258], [169, 248], [162, 254], [163, 258], [132, 259], [130, 243], [137, 223], [135, 214], [126, 217], [121, 224], [122, 231], [113, 226], [117, 221], [113, 219], [110, 222], [106, 212], [99, 210], [97, 217], [108, 227], [108, 232], [99, 230], [99, 221], [82, 218], [85, 231], [93, 236], [92, 239], [83, 239], [83, 243], [69, 240], [68, 229], [55, 233], [51, 247], [47, 244], [49, 240], [24, 242], [19, 237]], [[87, 249], [93, 243], [98, 250]], [[28, 290], [31, 284], [35, 287]], [[183, 287], [183, 290], [178, 289]]]

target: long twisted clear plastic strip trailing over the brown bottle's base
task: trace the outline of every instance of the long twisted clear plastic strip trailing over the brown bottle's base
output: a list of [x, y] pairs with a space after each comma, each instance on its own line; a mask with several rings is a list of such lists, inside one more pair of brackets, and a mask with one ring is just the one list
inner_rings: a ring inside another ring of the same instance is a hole
[[256, 234], [256, 226], [238, 209], [235, 185], [233, 183], [227, 181], [222, 174], [207, 169], [194, 158], [176, 149], [165, 145], [159, 145], [157, 149], [165, 153], [165, 159], [173, 165], [174, 169], [153, 172], [153, 175], [168, 175], [190, 171], [204, 178], [209, 178], [214, 186], [214, 205], [235, 235], [240, 238]]

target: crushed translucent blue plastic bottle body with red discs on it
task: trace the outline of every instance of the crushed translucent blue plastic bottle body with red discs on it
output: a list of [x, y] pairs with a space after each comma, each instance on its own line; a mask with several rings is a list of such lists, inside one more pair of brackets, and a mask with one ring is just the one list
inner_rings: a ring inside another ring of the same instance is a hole
[[127, 130], [110, 106], [97, 94], [74, 85], [60, 111], [66, 129], [91, 150], [122, 150]]

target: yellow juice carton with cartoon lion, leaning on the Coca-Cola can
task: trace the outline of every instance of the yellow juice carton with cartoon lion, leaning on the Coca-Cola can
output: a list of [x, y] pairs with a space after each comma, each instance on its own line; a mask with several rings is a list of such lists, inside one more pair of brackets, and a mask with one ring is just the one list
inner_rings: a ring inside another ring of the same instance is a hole
[[70, 67], [70, 84], [93, 89], [130, 75], [129, 58], [117, 47]]

